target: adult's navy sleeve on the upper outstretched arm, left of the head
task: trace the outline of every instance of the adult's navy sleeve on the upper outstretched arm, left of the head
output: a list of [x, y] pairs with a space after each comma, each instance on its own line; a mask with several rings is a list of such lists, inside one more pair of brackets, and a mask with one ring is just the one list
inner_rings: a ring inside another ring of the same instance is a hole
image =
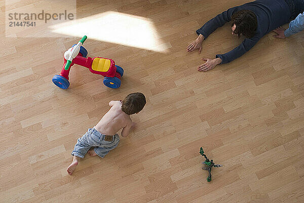
[[231, 20], [231, 16], [239, 11], [239, 7], [233, 7], [227, 11], [218, 14], [208, 22], [206, 22], [200, 29], [197, 30], [198, 35], [203, 35], [205, 39], [216, 30], [218, 27], [223, 26], [226, 22]]

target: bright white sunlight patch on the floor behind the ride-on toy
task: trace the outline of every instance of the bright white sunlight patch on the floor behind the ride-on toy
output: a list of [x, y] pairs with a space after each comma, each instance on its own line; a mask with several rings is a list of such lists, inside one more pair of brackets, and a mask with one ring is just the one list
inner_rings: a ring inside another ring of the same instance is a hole
[[121, 44], [140, 49], [165, 52], [170, 43], [159, 40], [153, 22], [148, 18], [114, 11], [52, 25], [55, 33]]

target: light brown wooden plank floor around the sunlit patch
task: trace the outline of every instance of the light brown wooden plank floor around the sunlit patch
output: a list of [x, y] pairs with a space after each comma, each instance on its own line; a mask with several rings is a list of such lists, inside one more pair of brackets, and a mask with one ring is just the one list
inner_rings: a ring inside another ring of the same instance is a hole
[[[201, 57], [242, 39], [226, 24], [200, 55], [187, 53], [195, 30], [248, 0], [77, 1], [78, 18], [106, 11], [148, 18], [170, 46], [157, 52], [88, 39], [89, 56], [125, 69], [121, 88], [75, 67], [62, 90], [51, 80], [79, 38], [4, 38], [4, 2], [0, 202], [304, 202], [304, 32], [286, 40], [269, 33], [243, 57], [201, 73]], [[15, 6], [39, 1], [23, 2]], [[77, 139], [110, 100], [137, 91], [147, 104], [132, 116], [134, 132], [104, 159], [86, 156], [69, 176]], [[224, 165], [210, 183], [200, 147]]]

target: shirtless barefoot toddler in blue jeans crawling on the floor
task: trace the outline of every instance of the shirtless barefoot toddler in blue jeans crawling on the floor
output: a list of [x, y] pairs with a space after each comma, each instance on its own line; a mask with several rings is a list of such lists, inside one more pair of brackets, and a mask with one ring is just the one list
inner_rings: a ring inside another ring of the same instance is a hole
[[[72, 175], [80, 158], [84, 158], [87, 152], [90, 156], [98, 155], [103, 158], [116, 148], [120, 140], [117, 131], [123, 128], [122, 137], [127, 137], [134, 125], [130, 115], [140, 112], [145, 104], [145, 96], [140, 92], [131, 93], [122, 101], [110, 101], [110, 110], [96, 126], [89, 128], [84, 136], [77, 140], [72, 151], [73, 161], [67, 167], [67, 173]], [[94, 148], [91, 149], [92, 147]]]

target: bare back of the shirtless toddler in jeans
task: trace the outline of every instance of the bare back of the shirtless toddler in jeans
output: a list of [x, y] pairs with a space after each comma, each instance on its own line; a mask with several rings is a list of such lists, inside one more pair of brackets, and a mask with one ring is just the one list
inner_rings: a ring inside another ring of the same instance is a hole
[[112, 107], [97, 123], [95, 129], [109, 136], [116, 134], [121, 128], [132, 125], [130, 115], [122, 111], [121, 101], [110, 101]]

